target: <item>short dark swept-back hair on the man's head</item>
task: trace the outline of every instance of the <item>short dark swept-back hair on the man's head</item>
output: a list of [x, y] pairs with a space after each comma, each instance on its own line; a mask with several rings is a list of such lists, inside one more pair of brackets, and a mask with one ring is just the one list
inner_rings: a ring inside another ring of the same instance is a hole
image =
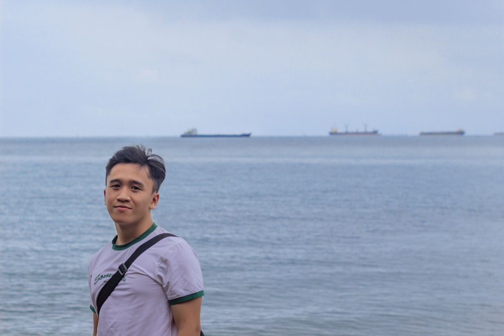
[[122, 147], [108, 160], [105, 179], [118, 163], [136, 163], [143, 167], [149, 167], [148, 176], [153, 183], [152, 191], [159, 191], [159, 187], [166, 175], [166, 168], [164, 167], [163, 158], [152, 154], [152, 149], [146, 148], [144, 145]]

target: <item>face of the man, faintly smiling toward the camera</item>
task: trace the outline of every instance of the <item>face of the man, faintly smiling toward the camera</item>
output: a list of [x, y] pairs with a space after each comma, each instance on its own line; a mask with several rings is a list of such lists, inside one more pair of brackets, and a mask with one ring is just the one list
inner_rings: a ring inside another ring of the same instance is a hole
[[148, 167], [119, 163], [112, 167], [103, 190], [108, 214], [119, 226], [151, 225], [150, 210], [155, 209], [159, 194], [153, 192]]

